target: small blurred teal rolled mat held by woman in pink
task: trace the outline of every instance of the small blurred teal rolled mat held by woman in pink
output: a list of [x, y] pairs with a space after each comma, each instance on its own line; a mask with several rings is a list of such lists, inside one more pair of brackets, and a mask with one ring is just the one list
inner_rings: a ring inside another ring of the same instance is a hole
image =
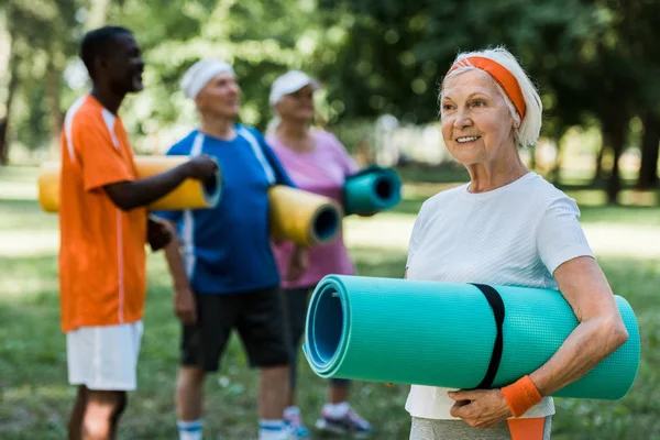
[[370, 215], [400, 201], [402, 180], [394, 169], [373, 165], [346, 177], [343, 191], [346, 216]]

